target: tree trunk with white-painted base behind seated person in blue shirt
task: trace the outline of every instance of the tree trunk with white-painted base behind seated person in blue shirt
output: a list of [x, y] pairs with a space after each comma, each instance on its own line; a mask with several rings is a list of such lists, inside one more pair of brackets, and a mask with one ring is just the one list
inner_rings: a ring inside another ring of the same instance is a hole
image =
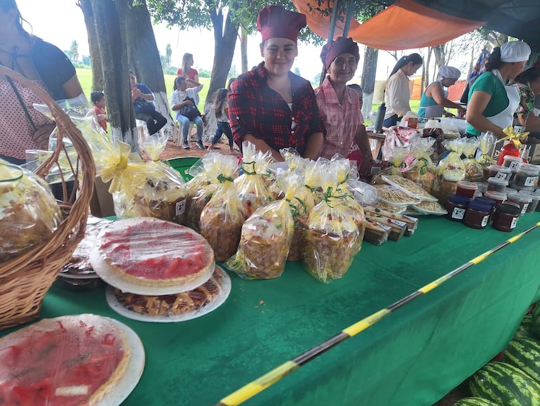
[[117, 7], [121, 7], [124, 13], [128, 66], [135, 71], [137, 80], [147, 84], [154, 93], [156, 110], [168, 119], [168, 125], [163, 129], [171, 136], [174, 120], [170, 114], [163, 67], [146, 1], [139, 0], [136, 6], [129, 6], [128, 3], [131, 1], [116, 1]]

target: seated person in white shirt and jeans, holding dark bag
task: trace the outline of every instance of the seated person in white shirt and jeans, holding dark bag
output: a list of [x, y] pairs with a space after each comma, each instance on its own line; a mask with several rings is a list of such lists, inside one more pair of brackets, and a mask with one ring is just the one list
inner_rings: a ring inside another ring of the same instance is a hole
[[198, 86], [194, 87], [187, 87], [187, 80], [189, 79], [181, 76], [175, 79], [174, 91], [170, 95], [170, 105], [176, 113], [178, 122], [182, 123], [182, 146], [184, 150], [189, 149], [189, 122], [193, 122], [197, 126], [197, 147], [201, 150], [205, 150], [206, 147], [203, 144], [203, 119], [200, 115], [190, 119], [180, 112], [180, 109], [185, 105], [193, 104], [196, 106], [198, 104], [198, 92], [203, 89], [202, 84], [198, 84]]

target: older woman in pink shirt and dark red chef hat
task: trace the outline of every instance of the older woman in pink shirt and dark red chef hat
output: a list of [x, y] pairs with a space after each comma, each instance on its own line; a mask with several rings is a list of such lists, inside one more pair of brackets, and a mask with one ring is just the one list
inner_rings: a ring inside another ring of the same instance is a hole
[[339, 37], [323, 46], [320, 59], [327, 72], [323, 84], [315, 91], [325, 126], [320, 156], [328, 159], [335, 154], [347, 157], [351, 146], [358, 145], [358, 148], [354, 148], [354, 159], [358, 166], [372, 163], [358, 93], [346, 86], [358, 67], [358, 44], [350, 38]]

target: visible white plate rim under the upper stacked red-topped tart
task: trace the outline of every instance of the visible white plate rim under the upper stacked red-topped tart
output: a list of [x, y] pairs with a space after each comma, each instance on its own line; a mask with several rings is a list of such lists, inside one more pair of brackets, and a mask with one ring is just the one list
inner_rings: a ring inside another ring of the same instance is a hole
[[90, 250], [90, 262], [95, 270], [95, 273], [99, 275], [102, 280], [108, 284], [120, 289], [122, 292], [130, 292], [135, 294], [147, 294], [152, 296], [159, 296], [161, 294], [177, 294], [180, 292], [187, 292], [201, 286], [204, 282], [210, 279], [212, 273], [214, 273], [214, 264], [208, 267], [205, 273], [202, 273], [196, 279], [190, 280], [184, 284], [175, 284], [173, 286], [143, 286], [135, 284], [133, 282], [124, 280], [120, 275], [114, 273], [114, 270], [104, 261], [100, 255], [99, 247], [93, 247]]

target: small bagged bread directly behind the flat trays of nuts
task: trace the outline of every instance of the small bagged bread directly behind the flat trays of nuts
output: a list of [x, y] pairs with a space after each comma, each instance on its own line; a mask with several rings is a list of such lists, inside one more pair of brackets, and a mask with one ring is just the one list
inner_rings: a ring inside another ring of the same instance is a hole
[[435, 140], [431, 137], [414, 140], [411, 147], [411, 154], [415, 157], [414, 164], [403, 172], [404, 178], [418, 183], [426, 192], [431, 192], [436, 178], [435, 164], [431, 160], [434, 143]]

